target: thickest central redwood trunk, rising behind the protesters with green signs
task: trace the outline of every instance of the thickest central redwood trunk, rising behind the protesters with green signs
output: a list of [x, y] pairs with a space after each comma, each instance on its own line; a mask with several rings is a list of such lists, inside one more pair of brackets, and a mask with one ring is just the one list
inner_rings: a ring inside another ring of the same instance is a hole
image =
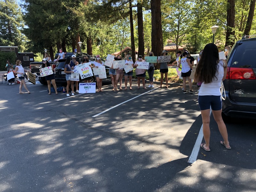
[[[161, 0], [151, 0], [151, 51], [155, 56], [160, 56], [163, 51], [163, 31], [161, 20]], [[156, 66], [158, 69], [160, 66]]]

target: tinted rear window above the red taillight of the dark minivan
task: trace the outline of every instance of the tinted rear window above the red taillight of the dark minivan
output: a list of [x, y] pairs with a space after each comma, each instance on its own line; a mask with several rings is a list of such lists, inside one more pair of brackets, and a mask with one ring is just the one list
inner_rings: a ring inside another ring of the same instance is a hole
[[236, 52], [230, 67], [256, 68], [255, 57], [252, 56], [256, 52], [255, 41], [240, 42], [234, 51]]

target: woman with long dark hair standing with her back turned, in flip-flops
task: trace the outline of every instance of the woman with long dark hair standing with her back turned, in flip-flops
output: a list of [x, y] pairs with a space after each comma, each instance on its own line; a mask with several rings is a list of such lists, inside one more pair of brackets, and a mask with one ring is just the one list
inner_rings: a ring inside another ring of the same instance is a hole
[[221, 116], [221, 81], [226, 78], [227, 64], [224, 60], [219, 60], [219, 51], [215, 44], [205, 45], [201, 58], [196, 67], [195, 82], [202, 82], [198, 93], [198, 104], [203, 120], [203, 133], [205, 143], [200, 145], [205, 151], [210, 151], [210, 107], [213, 117], [218, 124], [218, 128], [223, 141], [220, 144], [227, 149], [231, 149], [228, 141], [228, 132]]

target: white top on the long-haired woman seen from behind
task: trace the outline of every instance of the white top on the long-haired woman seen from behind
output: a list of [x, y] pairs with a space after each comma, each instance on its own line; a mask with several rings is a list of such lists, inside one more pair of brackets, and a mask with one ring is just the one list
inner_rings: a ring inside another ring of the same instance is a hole
[[212, 79], [212, 83], [204, 84], [202, 83], [198, 95], [204, 96], [204, 95], [215, 95], [220, 96], [220, 87], [221, 87], [221, 81], [224, 76], [224, 68], [223, 68], [223, 61], [220, 61], [218, 63], [216, 74]]

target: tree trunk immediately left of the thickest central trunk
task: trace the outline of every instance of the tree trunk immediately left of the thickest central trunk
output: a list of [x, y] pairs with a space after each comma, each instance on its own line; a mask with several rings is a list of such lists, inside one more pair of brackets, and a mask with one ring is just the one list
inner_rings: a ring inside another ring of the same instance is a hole
[[144, 58], [145, 55], [145, 45], [144, 45], [144, 30], [143, 30], [143, 13], [142, 13], [142, 4], [141, 0], [137, 1], [137, 18], [138, 18], [138, 43], [139, 51], [138, 56], [142, 55]]

